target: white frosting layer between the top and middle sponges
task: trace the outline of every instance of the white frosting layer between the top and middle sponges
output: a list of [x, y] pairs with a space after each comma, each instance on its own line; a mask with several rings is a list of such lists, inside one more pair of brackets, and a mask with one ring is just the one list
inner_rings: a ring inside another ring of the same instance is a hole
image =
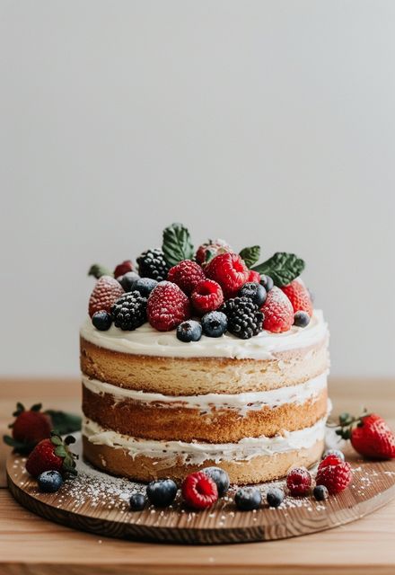
[[97, 379], [83, 376], [83, 385], [93, 394], [110, 394], [116, 402], [125, 399], [136, 403], [153, 404], [155, 407], [198, 409], [202, 413], [232, 409], [245, 415], [248, 411], [261, 410], [264, 407], [275, 408], [285, 403], [304, 403], [327, 386], [327, 372], [314, 377], [300, 385], [280, 387], [266, 392], [249, 392], [245, 394], [205, 394], [205, 395], [163, 395], [152, 394], [134, 389], [124, 389], [117, 385], [106, 384]]

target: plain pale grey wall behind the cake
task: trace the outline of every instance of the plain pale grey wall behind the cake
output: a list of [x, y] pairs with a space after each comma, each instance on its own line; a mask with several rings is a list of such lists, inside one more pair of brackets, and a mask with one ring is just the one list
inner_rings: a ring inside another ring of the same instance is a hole
[[292, 251], [332, 373], [393, 376], [395, 3], [0, 2], [1, 373], [78, 372], [93, 261]]

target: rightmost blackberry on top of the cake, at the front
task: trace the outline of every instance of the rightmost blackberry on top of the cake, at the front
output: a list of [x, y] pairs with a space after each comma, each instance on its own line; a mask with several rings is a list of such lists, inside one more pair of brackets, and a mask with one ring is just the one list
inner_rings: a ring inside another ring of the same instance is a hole
[[220, 307], [228, 318], [228, 332], [249, 340], [253, 335], [262, 331], [263, 314], [249, 297], [233, 297]]

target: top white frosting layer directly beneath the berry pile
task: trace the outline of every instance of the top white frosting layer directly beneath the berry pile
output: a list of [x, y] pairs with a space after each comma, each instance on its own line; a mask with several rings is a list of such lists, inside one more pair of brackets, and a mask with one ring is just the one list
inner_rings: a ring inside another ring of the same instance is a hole
[[293, 326], [288, 332], [272, 333], [264, 330], [250, 340], [240, 340], [231, 333], [220, 338], [205, 335], [199, 341], [184, 343], [176, 332], [158, 332], [145, 323], [134, 332], [122, 332], [112, 325], [108, 332], [99, 332], [89, 318], [81, 328], [86, 341], [101, 348], [145, 356], [166, 358], [236, 358], [270, 359], [278, 351], [299, 349], [322, 341], [328, 333], [328, 325], [320, 310], [315, 310], [305, 328]]

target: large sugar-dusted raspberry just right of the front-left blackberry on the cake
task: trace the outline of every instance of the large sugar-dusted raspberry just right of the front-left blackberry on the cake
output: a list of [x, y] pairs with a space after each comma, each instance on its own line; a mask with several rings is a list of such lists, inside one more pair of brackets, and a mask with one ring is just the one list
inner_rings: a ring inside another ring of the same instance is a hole
[[147, 316], [155, 330], [170, 332], [189, 319], [189, 299], [176, 284], [161, 281], [148, 298]]

